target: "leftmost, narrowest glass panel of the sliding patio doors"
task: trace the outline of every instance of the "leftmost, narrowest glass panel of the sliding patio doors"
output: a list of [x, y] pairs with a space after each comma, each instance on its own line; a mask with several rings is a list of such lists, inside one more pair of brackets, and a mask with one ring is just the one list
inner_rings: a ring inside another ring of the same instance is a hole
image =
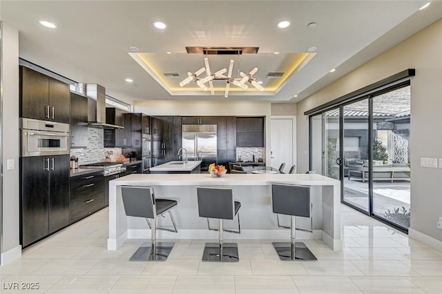
[[310, 119], [310, 169], [315, 170], [317, 174], [323, 174], [323, 115], [321, 113]]

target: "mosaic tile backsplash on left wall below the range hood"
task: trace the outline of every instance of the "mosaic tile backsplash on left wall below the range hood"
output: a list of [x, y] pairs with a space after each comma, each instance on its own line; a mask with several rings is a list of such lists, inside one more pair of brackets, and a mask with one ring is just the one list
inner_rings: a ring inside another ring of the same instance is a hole
[[79, 165], [104, 161], [103, 136], [103, 129], [88, 127], [88, 147], [86, 149], [70, 149], [70, 155], [77, 156]]

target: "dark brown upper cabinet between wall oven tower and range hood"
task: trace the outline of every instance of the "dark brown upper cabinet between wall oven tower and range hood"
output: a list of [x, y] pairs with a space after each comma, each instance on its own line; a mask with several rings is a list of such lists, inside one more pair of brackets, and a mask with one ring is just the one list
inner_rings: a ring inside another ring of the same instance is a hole
[[70, 93], [70, 147], [88, 147], [88, 98]]

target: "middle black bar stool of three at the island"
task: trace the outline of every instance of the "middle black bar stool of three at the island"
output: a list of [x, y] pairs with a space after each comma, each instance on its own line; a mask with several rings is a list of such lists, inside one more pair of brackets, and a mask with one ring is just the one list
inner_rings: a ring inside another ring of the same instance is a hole
[[[197, 187], [198, 213], [207, 218], [209, 230], [218, 230], [218, 243], [206, 243], [202, 254], [202, 261], [239, 261], [238, 244], [224, 243], [223, 232], [240, 234], [241, 203], [233, 201], [233, 191], [229, 188]], [[238, 231], [226, 230], [223, 227], [224, 219], [233, 219], [238, 214]], [[210, 219], [219, 219], [218, 229], [211, 228]]]

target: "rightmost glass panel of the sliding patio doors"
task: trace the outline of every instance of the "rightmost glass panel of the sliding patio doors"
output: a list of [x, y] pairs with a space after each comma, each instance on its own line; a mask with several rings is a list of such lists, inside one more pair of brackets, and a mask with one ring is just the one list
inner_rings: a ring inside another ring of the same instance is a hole
[[410, 86], [373, 98], [373, 214], [410, 227]]

